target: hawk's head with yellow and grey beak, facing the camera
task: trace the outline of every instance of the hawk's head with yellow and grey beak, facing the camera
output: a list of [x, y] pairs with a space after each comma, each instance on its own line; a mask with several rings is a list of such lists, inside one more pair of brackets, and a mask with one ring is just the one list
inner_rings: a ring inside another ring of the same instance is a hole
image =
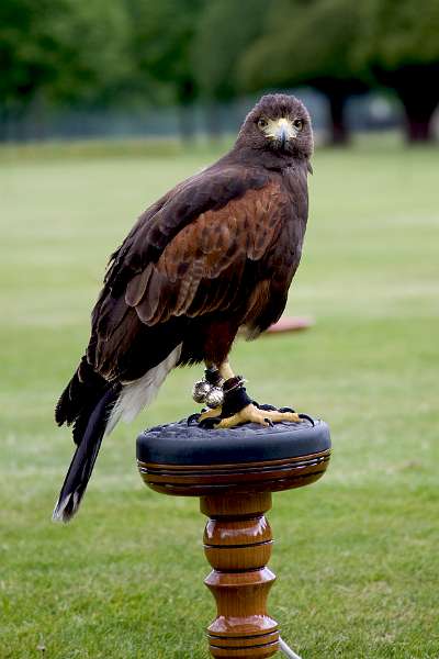
[[313, 154], [313, 130], [305, 105], [293, 96], [263, 96], [247, 114], [237, 144], [279, 156]]

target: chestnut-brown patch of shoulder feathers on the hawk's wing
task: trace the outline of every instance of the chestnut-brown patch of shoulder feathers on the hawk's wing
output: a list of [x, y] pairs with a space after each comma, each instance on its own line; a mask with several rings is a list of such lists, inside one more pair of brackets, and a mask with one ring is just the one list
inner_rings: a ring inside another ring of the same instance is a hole
[[246, 263], [263, 258], [285, 217], [285, 205], [280, 186], [270, 183], [200, 214], [166, 246], [151, 275], [148, 264], [136, 283], [130, 282], [126, 303], [148, 325], [172, 315], [193, 317], [230, 308]]

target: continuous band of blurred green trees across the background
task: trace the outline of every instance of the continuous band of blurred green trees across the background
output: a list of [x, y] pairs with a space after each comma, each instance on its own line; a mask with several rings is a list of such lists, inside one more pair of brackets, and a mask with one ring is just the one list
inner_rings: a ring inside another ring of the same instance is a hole
[[190, 132], [195, 99], [311, 85], [335, 142], [347, 99], [373, 86], [394, 89], [409, 135], [428, 138], [438, 33], [437, 0], [2, 0], [0, 133], [30, 107], [138, 100], [180, 104]]

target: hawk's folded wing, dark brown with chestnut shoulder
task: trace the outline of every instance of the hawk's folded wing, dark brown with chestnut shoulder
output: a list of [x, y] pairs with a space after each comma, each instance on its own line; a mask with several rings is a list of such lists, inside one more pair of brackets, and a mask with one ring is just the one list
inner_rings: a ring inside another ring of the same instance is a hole
[[[244, 186], [234, 174], [223, 181], [223, 200], [214, 198], [202, 176], [176, 189], [153, 216], [139, 219], [113, 255], [88, 351], [106, 378], [120, 376], [120, 359], [142, 326], [165, 331], [179, 316], [233, 310], [243, 295], [255, 303], [252, 291], [240, 284], [244, 270], [261, 264], [275, 245], [291, 200], [267, 175]], [[213, 181], [221, 190], [217, 175]], [[268, 278], [270, 272], [262, 272], [261, 279]]]

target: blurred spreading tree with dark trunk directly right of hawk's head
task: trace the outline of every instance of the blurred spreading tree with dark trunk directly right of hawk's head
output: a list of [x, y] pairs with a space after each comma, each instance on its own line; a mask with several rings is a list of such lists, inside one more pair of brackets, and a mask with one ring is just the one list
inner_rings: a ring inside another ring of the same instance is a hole
[[348, 141], [345, 109], [365, 91], [360, 60], [352, 56], [359, 37], [360, 3], [352, 0], [272, 0], [267, 25], [240, 63], [249, 89], [311, 85], [329, 104], [331, 142]]

